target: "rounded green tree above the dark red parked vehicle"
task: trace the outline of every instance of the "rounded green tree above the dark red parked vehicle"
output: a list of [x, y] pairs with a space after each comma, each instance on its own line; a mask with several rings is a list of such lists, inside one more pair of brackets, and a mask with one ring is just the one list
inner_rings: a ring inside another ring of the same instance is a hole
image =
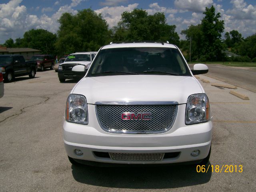
[[24, 33], [22, 46], [41, 50], [42, 54], [55, 54], [57, 36], [44, 29], [32, 29]]

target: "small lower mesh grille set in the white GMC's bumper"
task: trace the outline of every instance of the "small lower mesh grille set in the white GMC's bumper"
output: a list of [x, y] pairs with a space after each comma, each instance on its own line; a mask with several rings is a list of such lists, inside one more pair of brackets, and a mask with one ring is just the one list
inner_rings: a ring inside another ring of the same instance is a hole
[[109, 153], [112, 160], [119, 161], [160, 161], [164, 153]]

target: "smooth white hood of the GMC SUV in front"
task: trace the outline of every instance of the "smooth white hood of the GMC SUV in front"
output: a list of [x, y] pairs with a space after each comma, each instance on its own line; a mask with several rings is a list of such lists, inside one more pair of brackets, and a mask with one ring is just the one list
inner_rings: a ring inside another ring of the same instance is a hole
[[191, 94], [202, 92], [196, 78], [170, 75], [85, 77], [71, 91], [84, 95], [88, 104], [117, 101], [171, 101], [182, 104]]

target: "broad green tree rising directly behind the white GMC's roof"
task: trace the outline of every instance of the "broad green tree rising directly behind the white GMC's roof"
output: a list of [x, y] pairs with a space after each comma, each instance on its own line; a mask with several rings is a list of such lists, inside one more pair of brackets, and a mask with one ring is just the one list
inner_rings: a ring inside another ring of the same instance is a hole
[[113, 41], [169, 41], [179, 43], [175, 25], [168, 25], [163, 13], [148, 15], [146, 10], [134, 9], [123, 12], [118, 26], [112, 28]]

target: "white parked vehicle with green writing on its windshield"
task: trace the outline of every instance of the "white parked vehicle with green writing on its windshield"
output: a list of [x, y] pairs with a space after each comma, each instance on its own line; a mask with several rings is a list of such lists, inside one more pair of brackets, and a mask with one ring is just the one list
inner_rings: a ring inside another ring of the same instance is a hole
[[64, 63], [58, 66], [58, 78], [60, 82], [65, 82], [66, 79], [80, 79], [84, 74], [74, 74], [72, 68], [76, 65], [85, 66], [86, 69], [95, 57], [95, 52], [77, 52], [70, 54]]

